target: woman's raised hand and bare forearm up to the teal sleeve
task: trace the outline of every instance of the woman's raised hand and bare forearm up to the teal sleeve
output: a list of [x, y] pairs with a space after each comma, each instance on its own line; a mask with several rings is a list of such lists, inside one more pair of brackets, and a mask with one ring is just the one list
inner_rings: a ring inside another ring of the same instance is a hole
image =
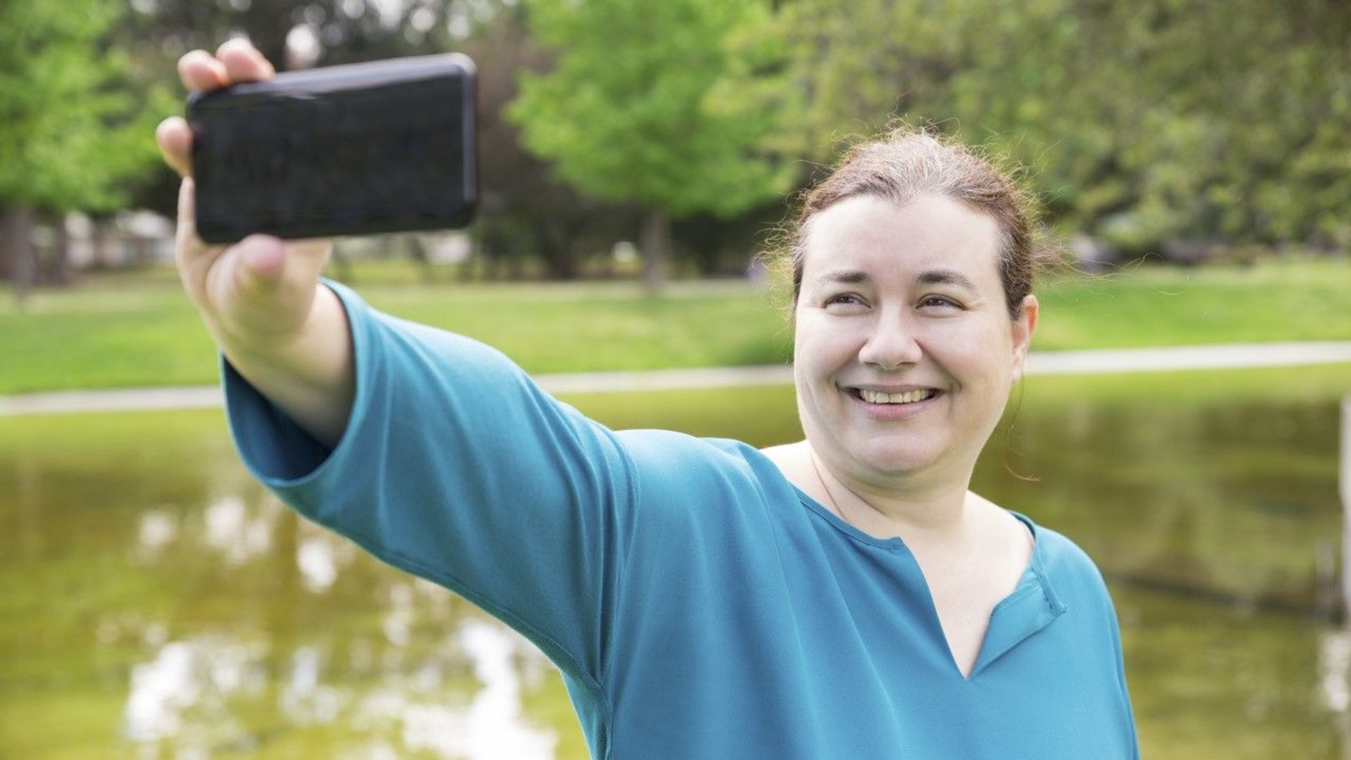
[[[193, 50], [178, 60], [188, 89], [212, 91], [276, 74], [242, 39], [216, 55]], [[165, 161], [182, 176], [176, 258], [184, 288], [231, 365], [316, 440], [335, 445], [351, 412], [355, 372], [347, 315], [319, 273], [330, 241], [250, 235], [235, 245], [197, 237], [192, 130], [170, 116], [155, 130]]]

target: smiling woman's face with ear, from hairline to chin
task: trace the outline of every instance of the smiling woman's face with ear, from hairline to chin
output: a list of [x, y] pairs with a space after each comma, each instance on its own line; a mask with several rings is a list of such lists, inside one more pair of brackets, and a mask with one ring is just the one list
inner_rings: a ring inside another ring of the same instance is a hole
[[1032, 296], [1009, 318], [998, 245], [993, 218], [932, 193], [904, 208], [855, 196], [812, 219], [793, 375], [836, 475], [965, 487], [1036, 325]]

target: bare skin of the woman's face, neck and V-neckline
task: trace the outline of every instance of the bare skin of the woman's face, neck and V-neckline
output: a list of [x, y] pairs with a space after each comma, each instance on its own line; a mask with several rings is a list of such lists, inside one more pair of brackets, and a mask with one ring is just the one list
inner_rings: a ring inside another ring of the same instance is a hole
[[[1004, 310], [1000, 238], [989, 216], [931, 193], [819, 212], [793, 358], [807, 441], [771, 454], [785, 472], [794, 453], [809, 460], [815, 477], [798, 465], [797, 485], [842, 519], [907, 541], [966, 673], [1032, 553], [1021, 522], [967, 494], [1036, 322], [1034, 296], [1016, 319]], [[981, 561], [962, 567], [970, 550]]]

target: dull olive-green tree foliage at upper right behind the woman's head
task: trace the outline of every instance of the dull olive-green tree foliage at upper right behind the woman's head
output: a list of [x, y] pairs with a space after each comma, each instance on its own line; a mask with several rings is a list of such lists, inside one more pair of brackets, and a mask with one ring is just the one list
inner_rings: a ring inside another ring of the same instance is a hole
[[1029, 166], [1051, 218], [1351, 246], [1351, 8], [1323, 0], [821, 0], [777, 19], [817, 156], [890, 115]]

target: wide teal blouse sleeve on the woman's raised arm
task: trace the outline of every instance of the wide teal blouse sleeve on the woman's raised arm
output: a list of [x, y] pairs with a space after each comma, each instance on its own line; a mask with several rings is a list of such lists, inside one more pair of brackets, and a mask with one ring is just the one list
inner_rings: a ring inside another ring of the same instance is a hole
[[326, 449], [226, 362], [245, 464], [304, 517], [474, 602], [594, 683], [636, 503], [615, 434], [497, 350], [328, 287], [355, 353], [346, 431]]

